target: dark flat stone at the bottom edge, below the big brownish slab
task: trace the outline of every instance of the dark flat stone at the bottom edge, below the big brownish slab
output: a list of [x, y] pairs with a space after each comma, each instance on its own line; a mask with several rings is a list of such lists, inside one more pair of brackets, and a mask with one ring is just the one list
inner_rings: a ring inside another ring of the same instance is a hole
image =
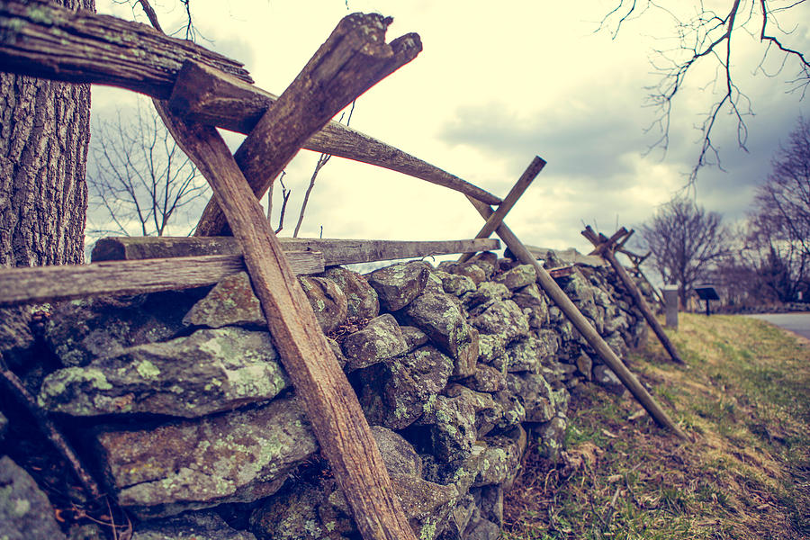
[[135, 527], [132, 540], [256, 540], [247, 531], [229, 527], [214, 512], [188, 512], [175, 518], [148, 521]]

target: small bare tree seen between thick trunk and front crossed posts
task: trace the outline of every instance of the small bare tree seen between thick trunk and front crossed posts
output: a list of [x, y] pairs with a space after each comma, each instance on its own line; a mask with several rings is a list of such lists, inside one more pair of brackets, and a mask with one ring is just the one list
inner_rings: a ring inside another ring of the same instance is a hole
[[[93, 122], [87, 171], [89, 234], [163, 236], [170, 223], [208, 197], [208, 184], [155, 112]], [[179, 218], [179, 219], [178, 219]], [[188, 233], [187, 229], [184, 233]]]

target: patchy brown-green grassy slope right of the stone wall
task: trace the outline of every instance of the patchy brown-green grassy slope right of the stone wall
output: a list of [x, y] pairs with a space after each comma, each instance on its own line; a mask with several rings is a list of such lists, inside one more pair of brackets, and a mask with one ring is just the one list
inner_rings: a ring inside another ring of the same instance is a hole
[[738, 316], [670, 336], [687, 366], [652, 333], [628, 364], [691, 440], [580, 385], [563, 457], [530, 453], [507, 494], [506, 540], [810, 538], [810, 342]]

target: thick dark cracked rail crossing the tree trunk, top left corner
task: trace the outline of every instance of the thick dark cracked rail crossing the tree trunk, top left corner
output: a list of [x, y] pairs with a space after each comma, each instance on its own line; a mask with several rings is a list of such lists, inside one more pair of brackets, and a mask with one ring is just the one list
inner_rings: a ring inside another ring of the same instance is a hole
[[166, 99], [185, 60], [252, 83], [242, 64], [146, 24], [72, 11], [44, 0], [0, 2], [0, 69], [128, 88]]

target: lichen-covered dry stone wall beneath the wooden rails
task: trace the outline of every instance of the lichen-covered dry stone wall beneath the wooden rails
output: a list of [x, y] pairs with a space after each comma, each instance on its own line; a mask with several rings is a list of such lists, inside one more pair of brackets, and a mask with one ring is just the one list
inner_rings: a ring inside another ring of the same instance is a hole
[[[527, 445], [551, 459], [563, 447], [568, 389], [623, 391], [535, 281], [532, 266], [491, 253], [301, 278], [420, 539], [500, 536], [503, 493]], [[580, 266], [560, 283], [620, 356], [642, 343], [644, 320], [608, 269]], [[18, 335], [20, 313], [4, 325]], [[0, 332], [4, 356], [81, 441], [136, 540], [359, 538], [247, 275], [66, 302], [33, 328], [16, 340]], [[9, 445], [7, 435], [0, 450]], [[4, 500], [33, 501], [14, 491], [36, 491], [14, 461], [0, 459], [0, 476], [18, 479], [0, 487]], [[43, 505], [9, 502], [0, 523], [58, 528]], [[90, 537], [86, 528], [71, 537]]]

